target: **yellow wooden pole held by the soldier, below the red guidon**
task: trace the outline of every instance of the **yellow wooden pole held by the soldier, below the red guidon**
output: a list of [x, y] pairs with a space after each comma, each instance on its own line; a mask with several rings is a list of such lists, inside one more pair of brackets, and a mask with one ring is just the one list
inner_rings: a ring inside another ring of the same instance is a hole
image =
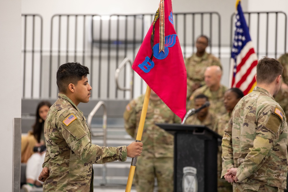
[[[136, 142], [141, 142], [143, 127], [144, 127], [147, 109], [148, 109], [150, 93], [151, 93], [151, 88], [147, 85], [145, 98], [144, 98], [144, 102], [143, 102], [143, 107], [142, 107], [142, 112], [141, 112], [141, 117], [140, 117], [140, 122], [139, 122], [139, 126], [138, 126], [138, 131], [137, 131], [137, 136], [136, 136]], [[136, 162], [137, 162], [137, 157], [132, 158], [132, 163], [130, 166], [130, 171], [129, 171], [129, 176], [128, 176], [125, 192], [131, 191], [132, 181], [133, 181], [134, 172], [135, 172], [135, 168], [136, 168]]]

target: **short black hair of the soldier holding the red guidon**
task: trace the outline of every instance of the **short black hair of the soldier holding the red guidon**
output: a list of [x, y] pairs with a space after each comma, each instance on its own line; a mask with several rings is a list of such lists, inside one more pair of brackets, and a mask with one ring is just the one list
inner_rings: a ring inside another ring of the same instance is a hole
[[87, 77], [88, 74], [88, 67], [81, 65], [79, 62], [62, 64], [56, 74], [59, 92], [66, 93], [70, 83], [77, 85], [78, 81], [82, 80], [83, 76]]

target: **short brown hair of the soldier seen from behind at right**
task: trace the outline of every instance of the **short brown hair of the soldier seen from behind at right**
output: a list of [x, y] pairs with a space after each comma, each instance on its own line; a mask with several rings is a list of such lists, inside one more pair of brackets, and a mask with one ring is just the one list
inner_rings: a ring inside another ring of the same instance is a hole
[[278, 75], [282, 75], [283, 69], [282, 64], [278, 60], [263, 57], [257, 64], [257, 82], [270, 84]]

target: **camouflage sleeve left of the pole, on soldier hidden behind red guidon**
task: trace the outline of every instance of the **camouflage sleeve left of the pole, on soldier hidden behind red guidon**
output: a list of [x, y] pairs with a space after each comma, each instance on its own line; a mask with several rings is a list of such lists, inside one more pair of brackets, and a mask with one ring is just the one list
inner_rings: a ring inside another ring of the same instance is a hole
[[132, 100], [124, 111], [124, 128], [126, 132], [131, 135], [133, 138], [136, 137], [136, 111], [135, 111], [135, 100]]

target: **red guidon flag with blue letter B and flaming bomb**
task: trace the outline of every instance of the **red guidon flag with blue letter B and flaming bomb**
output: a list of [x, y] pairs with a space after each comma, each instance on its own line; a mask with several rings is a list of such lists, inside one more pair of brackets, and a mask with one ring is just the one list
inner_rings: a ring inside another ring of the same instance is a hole
[[161, 0], [132, 69], [182, 121], [186, 114], [187, 74], [173, 22], [171, 0]]

